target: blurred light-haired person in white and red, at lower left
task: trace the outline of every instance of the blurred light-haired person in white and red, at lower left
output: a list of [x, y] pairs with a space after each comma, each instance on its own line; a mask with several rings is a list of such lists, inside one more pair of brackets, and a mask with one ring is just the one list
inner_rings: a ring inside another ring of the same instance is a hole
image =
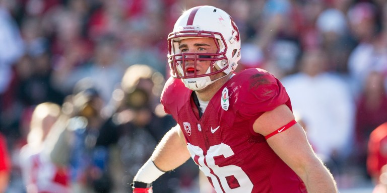
[[27, 193], [70, 192], [66, 167], [56, 166], [45, 151], [44, 143], [60, 115], [60, 106], [42, 103], [33, 111], [27, 144], [20, 151], [20, 167]]

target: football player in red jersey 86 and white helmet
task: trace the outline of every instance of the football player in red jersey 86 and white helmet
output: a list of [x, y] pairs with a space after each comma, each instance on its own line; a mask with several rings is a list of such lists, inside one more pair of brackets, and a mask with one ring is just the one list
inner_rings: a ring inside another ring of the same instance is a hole
[[161, 103], [178, 123], [134, 178], [134, 192], [192, 158], [216, 192], [337, 192], [332, 174], [294, 120], [281, 82], [233, 70], [240, 34], [223, 10], [187, 10], [168, 36], [171, 78]]

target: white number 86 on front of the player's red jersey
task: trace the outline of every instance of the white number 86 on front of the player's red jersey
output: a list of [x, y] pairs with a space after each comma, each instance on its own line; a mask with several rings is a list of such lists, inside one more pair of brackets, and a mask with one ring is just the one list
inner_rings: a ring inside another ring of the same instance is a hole
[[[232, 151], [231, 147], [221, 143], [219, 145], [211, 146], [208, 151], [207, 155], [204, 155], [203, 149], [201, 149], [199, 146], [194, 146], [190, 143], [188, 143], [188, 150], [191, 154], [192, 159], [195, 158], [195, 156], [199, 156], [198, 163], [199, 168], [203, 171], [203, 173], [210, 177], [212, 180], [212, 184], [214, 185], [214, 188], [216, 192], [223, 192], [222, 188], [225, 192], [251, 192], [253, 184], [248, 178], [247, 174], [243, 172], [242, 168], [236, 165], [226, 165], [219, 167], [215, 164], [214, 157], [223, 155], [225, 158], [230, 157], [234, 155], [234, 152]], [[207, 164], [206, 164], [207, 163]], [[211, 173], [211, 170], [214, 172], [214, 174]], [[227, 183], [226, 177], [227, 176], [234, 176], [239, 183], [239, 187], [231, 189]], [[219, 184], [219, 181], [220, 184]]]

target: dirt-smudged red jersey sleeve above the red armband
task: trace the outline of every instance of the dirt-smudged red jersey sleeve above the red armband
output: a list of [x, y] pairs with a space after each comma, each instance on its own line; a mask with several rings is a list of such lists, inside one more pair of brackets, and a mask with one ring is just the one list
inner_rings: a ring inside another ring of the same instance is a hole
[[241, 86], [238, 113], [247, 118], [258, 118], [267, 111], [286, 104], [291, 109], [289, 95], [282, 83], [269, 72], [259, 69], [249, 73]]

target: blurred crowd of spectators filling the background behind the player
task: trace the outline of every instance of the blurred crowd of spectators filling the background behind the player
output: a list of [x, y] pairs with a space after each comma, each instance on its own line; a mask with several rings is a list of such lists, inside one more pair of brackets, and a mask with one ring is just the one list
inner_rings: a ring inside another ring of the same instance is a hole
[[[0, 0], [0, 192], [130, 191], [175, 124], [159, 104], [167, 35], [199, 5], [233, 17], [237, 71], [282, 81], [339, 188], [379, 183], [387, 140], [369, 139], [387, 122], [385, 1]], [[199, 192], [198, 175], [188, 161], [154, 189]]]

